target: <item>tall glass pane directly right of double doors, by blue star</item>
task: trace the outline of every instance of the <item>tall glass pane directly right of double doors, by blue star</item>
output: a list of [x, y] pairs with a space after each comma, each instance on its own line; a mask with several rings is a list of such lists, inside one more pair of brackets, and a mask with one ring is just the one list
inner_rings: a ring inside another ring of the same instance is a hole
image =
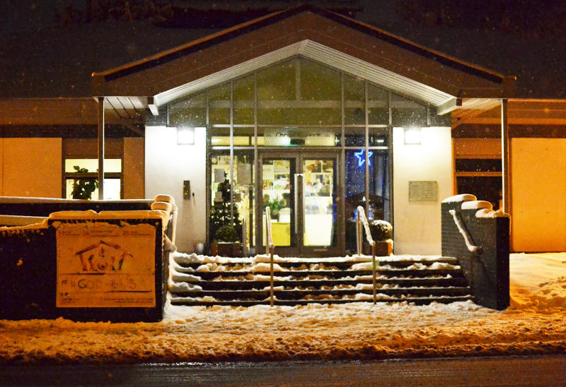
[[356, 251], [357, 206], [366, 205], [366, 162], [365, 150], [345, 150], [346, 166], [346, 250], [350, 254]]

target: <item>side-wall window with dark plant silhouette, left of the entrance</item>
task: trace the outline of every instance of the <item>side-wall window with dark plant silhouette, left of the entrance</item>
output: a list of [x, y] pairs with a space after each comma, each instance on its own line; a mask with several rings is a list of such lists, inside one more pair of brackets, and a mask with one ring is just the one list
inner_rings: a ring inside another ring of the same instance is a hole
[[[93, 138], [66, 139], [63, 145], [63, 197], [98, 199], [98, 144]], [[122, 198], [122, 139], [105, 142], [104, 198]]]

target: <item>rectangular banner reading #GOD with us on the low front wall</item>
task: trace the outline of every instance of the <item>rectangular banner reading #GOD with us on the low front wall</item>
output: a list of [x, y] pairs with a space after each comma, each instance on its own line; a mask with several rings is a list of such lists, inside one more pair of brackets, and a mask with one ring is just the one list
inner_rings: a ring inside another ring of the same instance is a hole
[[58, 222], [57, 307], [154, 307], [156, 227]]

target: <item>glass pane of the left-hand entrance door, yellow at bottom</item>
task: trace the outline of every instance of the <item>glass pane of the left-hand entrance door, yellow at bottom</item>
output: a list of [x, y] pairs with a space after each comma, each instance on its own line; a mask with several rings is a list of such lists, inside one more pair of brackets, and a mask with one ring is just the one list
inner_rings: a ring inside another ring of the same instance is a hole
[[262, 213], [263, 245], [265, 246], [265, 207], [270, 207], [272, 237], [275, 246], [291, 246], [293, 197], [291, 179], [294, 178], [294, 160], [263, 160], [262, 162]]

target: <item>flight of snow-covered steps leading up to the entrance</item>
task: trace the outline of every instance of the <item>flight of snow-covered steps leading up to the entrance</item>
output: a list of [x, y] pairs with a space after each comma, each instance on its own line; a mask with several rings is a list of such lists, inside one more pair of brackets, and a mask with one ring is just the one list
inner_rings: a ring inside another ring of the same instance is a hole
[[[473, 299], [456, 258], [381, 257], [379, 302], [455, 302]], [[169, 290], [177, 305], [269, 304], [266, 256], [224, 258], [174, 253]], [[274, 294], [279, 305], [372, 301], [371, 257], [275, 257]]]

